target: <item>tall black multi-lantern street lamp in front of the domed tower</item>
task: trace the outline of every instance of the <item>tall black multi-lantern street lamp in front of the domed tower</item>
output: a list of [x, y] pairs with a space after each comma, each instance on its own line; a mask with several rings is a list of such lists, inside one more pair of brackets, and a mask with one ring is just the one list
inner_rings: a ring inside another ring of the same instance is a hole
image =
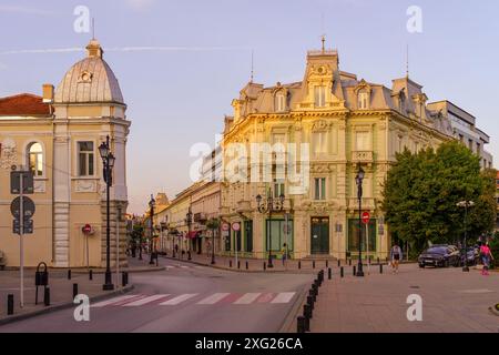
[[[112, 170], [114, 166], [114, 155], [111, 153], [110, 148], [110, 139], [109, 135], [105, 139], [105, 142], [103, 142], [99, 146], [99, 154], [102, 158], [102, 163], [104, 165], [103, 170], [103, 179], [105, 182], [105, 192], [106, 192], [106, 206], [105, 206], [105, 213], [106, 213], [106, 226], [105, 226], [105, 282], [102, 286], [102, 290], [104, 291], [112, 291], [114, 290], [114, 285], [111, 277], [111, 212], [110, 212], [110, 190], [113, 184], [112, 182]], [[118, 247], [116, 247], [118, 252]]]

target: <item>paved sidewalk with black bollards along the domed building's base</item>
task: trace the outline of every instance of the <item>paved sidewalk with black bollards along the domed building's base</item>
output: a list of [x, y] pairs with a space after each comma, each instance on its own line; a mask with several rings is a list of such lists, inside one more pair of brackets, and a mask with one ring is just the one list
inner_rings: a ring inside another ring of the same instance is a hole
[[[8, 321], [7, 316], [7, 298], [9, 294], [14, 296], [14, 315], [28, 316], [30, 314], [37, 315], [40, 312], [47, 311], [48, 308], [57, 308], [62, 305], [71, 304], [73, 297], [73, 284], [78, 284], [79, 294], [85, 294], [90, 298], [102, 298], [116, 294], [116, 292], [123, 291], [121, 287], [122, 280], [121, 273], [142, 273], [142, 272], [154, 272], [164, 270], [164, 266], [156, 267], [151, 266], [147, 263], [140, 262], [133, 258], [129, 260], [129, 267], [120, 268], [120, 276], [116, 280], [116, 271], [112, 270], [113, 284], [115, 285], [114, 292], [102, 291], [102, 285], [104, 284], [104, 270], [93, 270], [93, 280], [90, 281], [89, 272], [83, 270], [72, 270], [71, 280], [68, 280], [68, 270], [65, 268], [49, 268], [49, 286], [50, 286], [50, 307], [43, 305], [43, 287], [39, 287], [38, 291], [38, 302], [35, 305], [35, 286], [34, 286], [34, 272], [33, 268], [24, 270], [24, 307], [20, 307], [20, 280], [19, 271], [2, 271], [0, 272], [0, 324]], [[129, 287], [130, 288], [130, 287]], [[128, 288], [125, 288], [126, 291]]]

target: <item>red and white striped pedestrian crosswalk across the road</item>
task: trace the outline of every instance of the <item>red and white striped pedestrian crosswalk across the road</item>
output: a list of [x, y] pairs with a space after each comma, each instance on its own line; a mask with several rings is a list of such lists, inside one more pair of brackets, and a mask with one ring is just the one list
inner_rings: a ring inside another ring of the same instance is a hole
[[197, 306], [208, 305], [251, 305], [251, 304], [287, 304], [296, 295], [296, 292], [281, 293], [213, 293], [197, 294], [186, 293], [180, 295], [172, 294], [133, 294], [114, 297], [91, 305], [93, 308], [102, 307], [140, 307], [140, 306], [176, 306], [182, 304], [193, 304]]

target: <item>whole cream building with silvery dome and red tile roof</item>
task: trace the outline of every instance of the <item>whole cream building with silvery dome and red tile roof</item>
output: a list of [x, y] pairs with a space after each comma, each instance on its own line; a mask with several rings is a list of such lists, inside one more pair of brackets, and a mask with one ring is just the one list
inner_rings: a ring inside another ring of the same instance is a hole
[[[43, 85], [43, 97], [0, 99], [0, 183], [10, 172], [34, 173], [34, 234], [27, 235], [26, 265], [54, 267], [105, 265], [105, 183], [99, 145], [111, 139], [115, 156], [111, 189], [111, 260], [126, 264], [126, 139], [131, 122], [119, 82], [103, 60], [96, 40], [86, 58], [60, 84]], [[0, 248], [8, 266], [19, 265], [18, 236], [12, 234], [9, 189], [0, 191]], [[82, 227], [92, 227], [85, 235]], [[116, 235], [119, 241], [116, 241]], [[86, 244], [88, 243], [88, 244]]]

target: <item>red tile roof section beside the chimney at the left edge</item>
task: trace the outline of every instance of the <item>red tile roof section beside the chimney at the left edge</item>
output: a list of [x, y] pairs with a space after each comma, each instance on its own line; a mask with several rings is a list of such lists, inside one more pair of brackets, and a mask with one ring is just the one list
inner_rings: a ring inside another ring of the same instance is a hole
[[21, 93], [0, 99], [0, 115], [50, 115], [50, 108], [43, 98]]

